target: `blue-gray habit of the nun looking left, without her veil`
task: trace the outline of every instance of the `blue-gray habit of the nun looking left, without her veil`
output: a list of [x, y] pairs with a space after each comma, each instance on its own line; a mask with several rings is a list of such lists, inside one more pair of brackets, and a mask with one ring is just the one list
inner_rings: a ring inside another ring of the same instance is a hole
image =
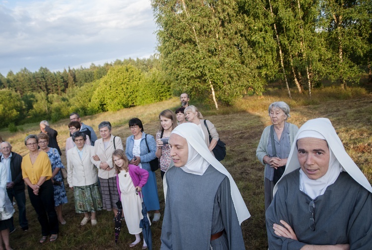
[[[210, 250], [210, 245], [213, 250], [245, 249], [225, 175], [210, 165], [202, 176], [172, 167], [166, 178], [161, 250]], [[220, 238], [210, 241], [221, 231]]]

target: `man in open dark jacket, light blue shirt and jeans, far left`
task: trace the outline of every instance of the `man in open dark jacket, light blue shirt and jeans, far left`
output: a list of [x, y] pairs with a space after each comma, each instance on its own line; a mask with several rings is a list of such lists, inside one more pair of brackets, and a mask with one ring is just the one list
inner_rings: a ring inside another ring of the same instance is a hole
[[[17, 201], [19, 211], [19, 225], [23, 231], [28, 230], [28, 221], [26, 219], [26, 196], [25, 186], [22, 179], [22, 156], [11, 151], [11, 145], [7, 141], [3, 141], [0, 144], [0, 150], [2, 153], [1, 162], [6, 168], [6, 191], [9, 199], [13, 202], [13, 197]], [[11, 217], [11, 227], [9, 232], [14, 232], [15, 228], [13, 225], [13, 217]]]

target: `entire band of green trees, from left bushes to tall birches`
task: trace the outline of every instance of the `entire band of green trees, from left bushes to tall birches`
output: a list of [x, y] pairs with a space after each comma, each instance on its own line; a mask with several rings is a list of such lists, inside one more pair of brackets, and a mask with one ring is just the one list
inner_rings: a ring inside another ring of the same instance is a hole
[[[158, 56], [0, 75], [0, 126], [57, 121], [187, 92], [230, 105], [270, 81], [311, 96], [322, 80], [372, 80], [372, 0], [151, 0]], [[6, 104], [6, 105], [5, 105]]]

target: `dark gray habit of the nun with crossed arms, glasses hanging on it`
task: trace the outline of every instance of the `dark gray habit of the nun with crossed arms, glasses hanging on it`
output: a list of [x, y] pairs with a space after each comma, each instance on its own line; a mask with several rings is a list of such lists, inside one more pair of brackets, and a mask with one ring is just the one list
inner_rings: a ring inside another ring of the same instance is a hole
[[[305, 245], [350, 244], [350, 250], [372, 249], [372, 193], [346, 172], [314, 200], [315, 231], [309, 226], [309, 203], [300, 191], [300, 173], [296, 170], [278, 183], [278, 191], [266, 211], [270, 250], [299, 250]], [[287, 222], [299, 241], [278, 237], [273, 224]]]

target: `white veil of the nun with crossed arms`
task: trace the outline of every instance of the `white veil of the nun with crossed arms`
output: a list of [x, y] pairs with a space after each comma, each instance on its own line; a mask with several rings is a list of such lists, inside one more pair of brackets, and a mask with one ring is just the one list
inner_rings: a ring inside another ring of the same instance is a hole
[[[317, 133], [314, 133], [314, 132], [317, 132]], [[308, 136], [310, 134], [313, 134], [313, 136]], [[314, 134], [320, 134], [320, 136], [317, 136]], [[299, 131], [297, 132], [295, 136], [295, 139], [294, 139], [295, 143], [292, 144], [291, 152], [289, 153], [289, 156], [288, 156], [287, 166], [284, 171], [284, 174], [282, 178], [280, 178], [278, 183], [283, 179], [285, 175], [288, 175], [289, 173], [300, 168], [299, 159], [297, 157], [297, 143], [296, 143], [296, 141], [299, 139], [299, 136], [301, 136], [302, 138], [303, 137], [324, 138], [327, 141], [329, 152], [330, 152], [329, 164], [332, 166], [335, 166], [335, 167], [328, 168], [328, 171], [326, 173], [328, 177], [326, 177], [325, 179], [327, 179], [326, 183], [328, 183], [328, 185], [326, 184], [325, 186], [320, 187], [320, 188], [317, 187], [316, 189], [318, 189], [318, 191], [314, 191], [313, 194], [311, 195], [316, 195], [316, 193], [321, 193], [322, 189], [324, 189], [325, 191], [326, 187], [330, 185], [329, 183], [332, 182], [332, 177], [330, 176], [337, 175], [338, 177], [338, 175], [341, 172], [340, 168], [342, 168], [343, 171], [346, 171], [362, 187], [366, 188], [368, 191], [372, 193], [372, 187], [369, 181], [364, 176], [362, 171], [358, 168], [358, 166], [355, 164], [355, 162], [346, 153], [345, 148], [342, 145], [342, 142], [336, 133], [336, 130], [332, 126], [331, 122], [326, 118], [317, 118], [317, 119], [309, 120], [308, 122], [306, 122], [304, 125], [301, 126], [301, 128], [299, 129]], [[305, 174], [302, 174], [302, 176], [304, 175]], [[322, 179], [322, 178], [319, 178], [319, 179]], [[332, 183], [334, 182], [335, 180]], [[278, 183], [274, 187], [274, 194], [278, 190]], [[307, 191], [311, 189], [310, 186], [312, 186], [312, 184], [308, 186], [309, 187], [306, 187]], [[304, 187], [300, 187], [300, 188], [304, 188]], [[311, 193], [312, 191], [309, 191], [309, 192]]]

